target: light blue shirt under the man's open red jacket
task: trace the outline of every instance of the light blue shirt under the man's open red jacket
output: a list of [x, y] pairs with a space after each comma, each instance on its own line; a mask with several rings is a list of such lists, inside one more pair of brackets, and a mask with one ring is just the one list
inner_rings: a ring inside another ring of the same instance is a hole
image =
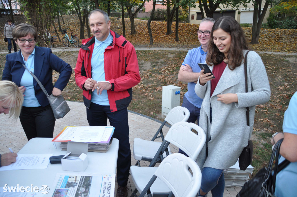
[[[92, 66], [92, 79], [99, 81], [105, 80], [105, 71], [104, 71], [104, 51], [108, 45], [113, 41], [113, 36], [110, 34], [104, 41], [99, 41], [95, 37], [94, 50], [91, 58]], [[92, 92], [91, 102], [99, 105], [109, 105], [107, 90], [103, 90], [101, 94], [97, 94], [97, 91]]]

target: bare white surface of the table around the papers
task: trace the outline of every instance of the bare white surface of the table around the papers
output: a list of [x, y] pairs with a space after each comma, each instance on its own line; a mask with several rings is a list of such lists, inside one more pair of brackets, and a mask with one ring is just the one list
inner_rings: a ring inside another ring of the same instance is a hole
[[[53, 153], [56, 155], [65, 155], [66, 150], [61, 150], [60, 142], [55, 142], [53, 138], [33, 138], [31, 139], [18, 154], [42, 154]], [[30, 170], [8, 170], [0, 171], [0, 188], [5, 184], [7, 186], [42, 186], [48, 185], [51, 187], [57, 173], [63, 174], [116, 174], [116, 162], [118, 159], [119, 140], [113, 139], [107, 152], [88, 152], [88, 167], [84, 172], [65, 171], [62, 170], [61, 163], [48, 164], [46, 169], [30, 169]], [[113, 188], [114, 189], [114, 188]], [[54, 188], [50, 188], [50, 192], [46, 196], [52, 196]]]

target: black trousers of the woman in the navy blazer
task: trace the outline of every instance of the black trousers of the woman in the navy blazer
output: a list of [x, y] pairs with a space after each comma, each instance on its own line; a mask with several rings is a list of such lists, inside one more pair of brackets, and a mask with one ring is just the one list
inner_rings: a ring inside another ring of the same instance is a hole
[[20, 123], [28, 140], [34, 137], [53, 137], [56, 118], [50, 105], [22, 107]]

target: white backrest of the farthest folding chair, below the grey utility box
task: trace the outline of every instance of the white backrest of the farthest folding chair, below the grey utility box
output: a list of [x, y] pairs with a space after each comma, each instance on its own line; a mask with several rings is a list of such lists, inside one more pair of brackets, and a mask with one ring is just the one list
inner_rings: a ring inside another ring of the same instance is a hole
[[190, 117], [190, 112], [187, 108], [185, 107], [181, 107], [181, 106], [177, 106], [177, 107], [173, 107], [168, 115], [165, 117], [165, 120], [170, 124], [170, 125], [174, 125], [175, 123], [178, 123], [180, 121], [185, 121], [187, 122], [187, 120]]

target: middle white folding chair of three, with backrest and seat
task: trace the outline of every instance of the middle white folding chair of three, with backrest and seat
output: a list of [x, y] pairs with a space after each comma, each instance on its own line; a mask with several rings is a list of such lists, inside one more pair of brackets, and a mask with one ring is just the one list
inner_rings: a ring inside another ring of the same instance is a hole
[[[198, 134], [192, 132], [192, 129], [197, 131]], [[157, 153], [152, 159], [150, 166], [130, 167], [130, 174], [136, 187], [136, 189], [132, 192], [131, 197], [137, 196], [137, 191], [141, 193], [144, 190], [145, 186], [149, 182], [149, 179], [157, 170], [157, 167], [153, 166], [157, 163], [158, 159], [162, 161], [163, 153], [170, 143], [183, 150], [193, 161], [196, 161], [203, 145], [205, 144], [205, 141], [206, 134], [204, 130], [194, 123], [178, 122], [172, 125], [167, 135], [165, 136], [164, 141], [160, 145]], [[197, 185], [197, 187], [200, 188], [199, 185]], [[171, 189], [166, 186], [165, 183], [162, 182], [159, 178], [157, 178], [151, 185], [150, 190], [155, 195], [168, 195], [171, 192]]]

